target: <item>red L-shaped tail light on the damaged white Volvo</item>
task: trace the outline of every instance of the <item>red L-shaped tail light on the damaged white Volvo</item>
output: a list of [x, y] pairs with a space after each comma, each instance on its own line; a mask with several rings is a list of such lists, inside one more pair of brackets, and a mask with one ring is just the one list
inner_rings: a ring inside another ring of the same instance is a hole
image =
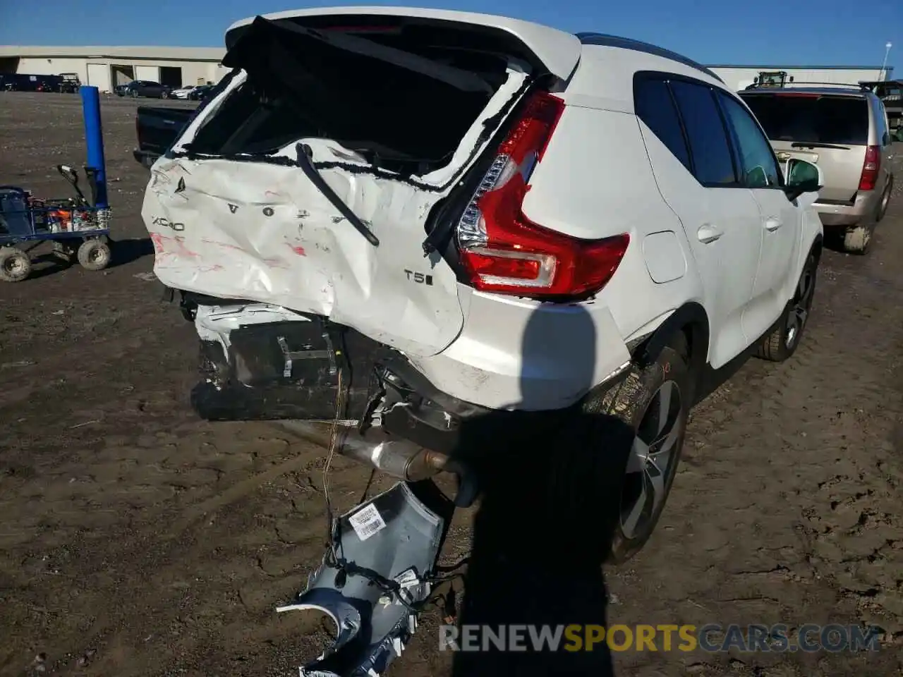
[[627, 250], [627, 234], [577, 239], [536, 225], [521, 210], [563, 110], [563, 101], [545, 92], [529, 100], [461, 216], [461, 263], [479, 291], [585, 297], [608, 283]]

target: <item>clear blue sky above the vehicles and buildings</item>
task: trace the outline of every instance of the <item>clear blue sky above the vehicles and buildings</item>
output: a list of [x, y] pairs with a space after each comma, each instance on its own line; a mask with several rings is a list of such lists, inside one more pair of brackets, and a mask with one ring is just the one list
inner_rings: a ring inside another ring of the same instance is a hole
[[[0, 44], [219, 46], [229, 23], [299, 6], [292, 0], [0, 0]], [[903, 77], [900, 0], [421, 0], [421, 5], [507, 14], [565, 31], [656, 43], [703, 63], [877, 65]], [[693, 7], [693, 9], [690, 9]], [[93, 18], [92, 18], [93, 17]]]

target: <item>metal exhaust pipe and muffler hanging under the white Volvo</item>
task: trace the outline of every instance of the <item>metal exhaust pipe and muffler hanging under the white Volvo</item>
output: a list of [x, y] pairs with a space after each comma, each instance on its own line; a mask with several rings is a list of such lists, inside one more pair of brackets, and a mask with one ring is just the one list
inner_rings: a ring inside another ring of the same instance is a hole
[[[330, 446], [332, 422], [281, 421], [279, 424], [285, 430], [314, 444], [327, 449]], [[357, 426], [357, 422], [339, 423], [336, 451], [342, 456], [408, 482], [419, 482], [441, 472], [451, 472], [458, 478], [454, 505], [473, 505], [478, 494], [476, 478], [461, 461], [452, 459], [441, 451], [424, 449], [411, 441], [393, 439], [379, 429], [371, 428], [361, 434], [352, 426]]]

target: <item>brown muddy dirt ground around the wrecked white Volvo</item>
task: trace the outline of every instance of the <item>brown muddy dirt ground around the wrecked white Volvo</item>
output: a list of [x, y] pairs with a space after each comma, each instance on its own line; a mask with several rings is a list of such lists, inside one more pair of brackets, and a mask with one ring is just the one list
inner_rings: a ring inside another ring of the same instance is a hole
[[[319, 621], [275, 607], [323, 552], [323, 450], [191, 413], [196, 338], [148, 275], [135, 102], [102, 111], [117, 264], [0, 286], [0, 673], [297, 674]], [[79, 97], [0, 94], [0, 184], [67, 194], [54, 165], [82, 165], [83, 138]], [[618, 675], [903, 674], [898, 155], [870, 255], [825, 253], [796, 357], [751, 360], [699, 405], [656, 535], [605, 570], [610, 623], [876, 623], [882, 650], [626, 652]], [[368, 476], [336, 461], [340, 507]], [[450, 673], [437, 623], [390, 674]]]

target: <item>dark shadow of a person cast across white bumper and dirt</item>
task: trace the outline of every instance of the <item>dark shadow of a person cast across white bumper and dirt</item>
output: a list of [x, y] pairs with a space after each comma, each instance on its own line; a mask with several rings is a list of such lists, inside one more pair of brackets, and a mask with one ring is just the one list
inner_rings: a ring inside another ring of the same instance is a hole
[[[581, 306], [540, 307], [522, 340], [517, 411], [490, 414], [461, 431], [480, 498], [454, 677], [613, 674], [600, 641], [607, 603], [601, 565], [623, 477], [612, 460], [627, 457], [634, 432], [583, 402], [529, 411], [588, 392], [595, 352], [595, 327]], [[558, 636], [557, 647], [543, 645], [544, 632]]]

